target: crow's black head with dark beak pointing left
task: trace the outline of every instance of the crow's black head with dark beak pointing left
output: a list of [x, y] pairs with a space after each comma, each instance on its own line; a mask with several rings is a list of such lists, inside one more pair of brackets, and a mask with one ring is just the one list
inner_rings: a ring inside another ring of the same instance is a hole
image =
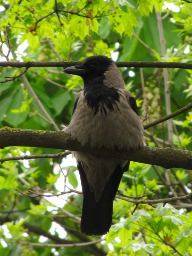
[[113, 60], [106, 56], [98, 55], [88, 57], [82, 65], [68, 67], [63, 72], [78, 76], [102, 76], [108, 70]]

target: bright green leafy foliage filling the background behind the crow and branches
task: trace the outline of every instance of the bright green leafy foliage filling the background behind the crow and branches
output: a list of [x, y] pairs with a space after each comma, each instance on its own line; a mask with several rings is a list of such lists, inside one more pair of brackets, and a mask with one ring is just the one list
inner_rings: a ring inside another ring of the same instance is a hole
[[[192, 60], [190, 1], [11, 0], [0, 3], [4, 6], [0, 12], [1, 39], [4, 42], [1, 43], [1, 52], [6, 55], [8, 36], [12, 46], [10, 61], [84, 60], [98, 54], [115, 56], [114, 53], [119, 61]], [[177, 6], [178, 11], [165, 9], [167, 3]], [[159, 35], [157, 12], [163, 17], [164, 41]], [[162, 54], [162, 45], [165, 54]], [[137, 99], [141, 118], [146, 116], [145, 110], [149, 106], [149, 118], [143, 124], [166, 115], [162, 69], [121, 68], [121, 71], [126, 88]], [[17, 68], [1, 68], [0, 81], [4, 76], [16, 76], [19, 72], [21, 70]], [[142, 74], [145, 87], [141, 86]], [[191, 70], [169, 69], [168, 84], [172, 112], [191, 101]], [[0, 85], [0, 126], [42, 130], [54, 130], [57, 126], [60, 129], [60, 124], [69, 123], [76, 93], [82, 86], [80, 77], [71, 77], [63, 73], [62, 68], [31, 68], [17, 80]], [[56, 126], [50, 120], [54, 120]], [[171, 147], [192, 150], [191, 120], [190, 111], [174, 118]], [[169, 145], [165, 123], [151, 127], [145, 135], [145, 143], [149, 146]], [[48, 148], [10, 147], [0, 151], [0, 158], [59, 152]], [[59, 164], [57, 159], [0, 164], [1, 255], [192, 255], [190, 199], [165, 206], [161, 203], [156, 208], [139, 204], [133, 215], [135, 205], [116, 199], [114, 225], [105, 236], [105, 242], [78, 247], [46, 246], [46, 243], [73, 245], [97, 239], [86, 237], [79, 231], [81, 194], [70, 193], [63, 199], [64, 207], [62, 204], [59, 207], [54, 201], [48, 201], [48, 197], [32, 197], [36, 195], [33, 193], [25, 196], [18, 192], [28, 194], [32, 190], [40, 194], [59, 194], [64, 191], [65, 177]], [[68, 171], [66, 165], [61, 166]], [[67, 176], [71, 189], [79, 186], [76, 173], [76, 167], [71, 166]], [[149, 198], [166, 198], [191, 192], [191, 179], [188, 170], [165, 170], [132, 162], [119, 189], [126, 196], [154, 192]], [[58, 180], [63, 181], [61, 191], [56, 185]], [[56, 223], [59, 231], [52, 228]], [[61, 230], [65, 231], [63, 236]], [[45, 246], [30, 243], [45, 243]]]

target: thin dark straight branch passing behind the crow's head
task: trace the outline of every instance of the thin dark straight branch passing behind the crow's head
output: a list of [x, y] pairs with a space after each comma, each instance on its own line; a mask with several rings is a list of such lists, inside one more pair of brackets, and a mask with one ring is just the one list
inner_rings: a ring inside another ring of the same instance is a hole
[[[31, 68], [31, 67], [63, 67], [67, 68], [74, 65], [82, 64], [82, 61], [60, 61], [60, 62], [17, 62], [17, 61], [0, 61], [0, 67], [12, 67], [12, 68]], [[185, 68], [192, 69], [191, 63], [184, 62], [156, 62], [156, 61], [130, 61], [130, 62], [116, 62], [119, 68]]]

